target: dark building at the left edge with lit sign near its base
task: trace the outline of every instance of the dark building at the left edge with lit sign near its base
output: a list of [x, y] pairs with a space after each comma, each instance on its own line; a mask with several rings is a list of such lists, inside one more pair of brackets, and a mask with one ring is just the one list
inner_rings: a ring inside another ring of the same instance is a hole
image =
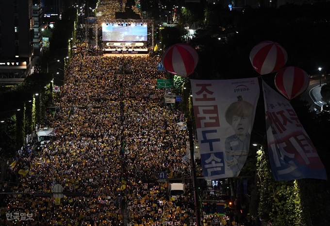
[[33, 73], [32, 0], [0, 1], [0, 83], [19, 83]]

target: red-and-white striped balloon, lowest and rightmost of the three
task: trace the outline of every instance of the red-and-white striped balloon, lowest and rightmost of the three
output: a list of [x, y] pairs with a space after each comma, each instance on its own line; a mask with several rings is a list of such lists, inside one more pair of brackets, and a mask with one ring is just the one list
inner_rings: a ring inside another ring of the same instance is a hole
[[299, 67], [283, 67], [275, 76], [275, 86], [289, 100], [298, 97], [309, 86], [309, 76]]

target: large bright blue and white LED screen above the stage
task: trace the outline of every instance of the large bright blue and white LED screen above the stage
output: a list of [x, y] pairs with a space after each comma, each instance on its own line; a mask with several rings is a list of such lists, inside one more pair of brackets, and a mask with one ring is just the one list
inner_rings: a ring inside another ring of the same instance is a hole
[[135, 23], [126, 26], [127, 23], [122, 23], [121, 25], [105, 23], [102, 24], [102, 41], [147, 41], [147, 24], [137, 24]]

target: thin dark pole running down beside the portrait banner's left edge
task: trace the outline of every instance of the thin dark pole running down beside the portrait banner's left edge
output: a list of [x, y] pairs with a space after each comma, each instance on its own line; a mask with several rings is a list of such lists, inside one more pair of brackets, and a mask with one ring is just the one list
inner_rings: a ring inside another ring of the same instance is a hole
[[191, 172], [193, 178], [193, 190], [194, 190], [194, 204], [195, 204], [195, 216], [197, 226], [200, 225], [200, 209], [199, 209], [199, 196], [197, 191], [197, 178], [196, 178], [196, 165], [194, 157], [194, 139], [193, 139], [193, 127], [191, 120], [187, 121], [187, 129], [189, 133], [189, 150], [190, 150], [190, 161], [191, 161]]

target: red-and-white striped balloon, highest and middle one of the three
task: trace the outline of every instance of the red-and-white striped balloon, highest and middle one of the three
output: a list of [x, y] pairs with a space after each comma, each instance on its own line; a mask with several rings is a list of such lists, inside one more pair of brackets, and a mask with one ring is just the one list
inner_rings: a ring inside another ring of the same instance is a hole
[[280, 70], [286, 63], [288, 55], [278, 43], [264, 41], [257, 44], [250, 52], [251, 64], [259, 74], [269, 74]]

